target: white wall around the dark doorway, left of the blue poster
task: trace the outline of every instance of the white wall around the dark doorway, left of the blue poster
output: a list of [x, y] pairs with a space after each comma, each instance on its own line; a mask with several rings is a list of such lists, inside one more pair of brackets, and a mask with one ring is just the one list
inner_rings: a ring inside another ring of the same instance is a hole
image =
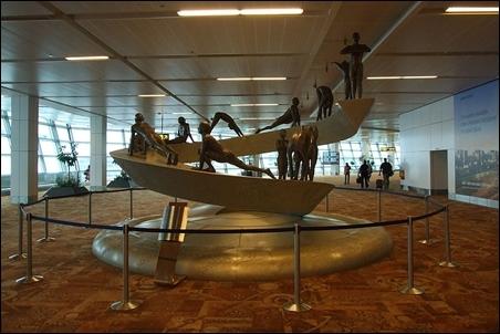
[[455, 192], [454, 97], [399, 116], [402, 185], [430, 189], [430, 150], [448, 150], [448, 191]]

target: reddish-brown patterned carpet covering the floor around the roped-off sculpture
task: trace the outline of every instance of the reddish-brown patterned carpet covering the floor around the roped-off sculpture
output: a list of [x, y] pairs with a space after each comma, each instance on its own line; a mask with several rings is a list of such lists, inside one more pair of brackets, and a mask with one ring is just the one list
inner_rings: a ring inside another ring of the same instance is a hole
[[[445, 201], [444, 198], [437, 198]], [[134, 196], [134, 216], [159, 213], [168, 198], [152, 191]], [[87, 220], [87, 197], [51, 203], [53, 218]], [[210, 282], [189, 278], [176, 288], [155, 285], [132, 274], [128, 312], [110, 310], [122, 299], [121, 269], [96, 260], [91, 242], [97, 230], [50, 226], [51, 243], [33, 243], [33, 273], [44, 280], [15, 284], [27, 261], [9, 261], [18, 248], [17, 207], [1, 199], [2, 332], [498, 332], [498, 210], [450, 202], [451, 251], [456, 269], [441, 268], [442, 215], [430, 219], [430, 246], [415, 242], [415, 285], [423, 295], [399, 289], [407, 280], [406, 226], [389, 227], [394, 250], [378, 263], [325, 276], [302, 279], [301, 298], [312, 310], [282, 311], [293, 299], [293, 279], [264, 282]], [[335, 190], [330, 210], [376, 219], [376, 196]], [[128, 215], [128, 194], [93, 196], [93, 219], [114, 223]], [[317, 210], [325, 210], [321, 203]], [[32, 211], [43, 216], [43, 206]], [[383, 196], [383, 219], [424, 212], [412, 198]], [[424, 237], [416, 222], [415, 238]], [[37, 222], [33, 239], [43, 236]]]

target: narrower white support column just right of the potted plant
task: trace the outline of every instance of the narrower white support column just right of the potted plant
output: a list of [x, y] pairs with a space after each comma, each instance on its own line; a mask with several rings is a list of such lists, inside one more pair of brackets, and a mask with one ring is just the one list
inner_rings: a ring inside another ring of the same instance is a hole
[[106, 186], [106, 117], [91, 116], [91, 186]]

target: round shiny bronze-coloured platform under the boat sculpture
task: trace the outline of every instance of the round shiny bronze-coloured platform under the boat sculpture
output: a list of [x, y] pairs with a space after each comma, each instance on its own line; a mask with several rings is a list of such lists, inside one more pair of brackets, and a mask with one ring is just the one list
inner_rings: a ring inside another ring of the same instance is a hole
[[[218, 206], [198, 206], [189, 211], [189, 229], [254, 229], [291, 227], [298, 216], [230, 211]], [[128, 221], [131, 227], [159, 228], [162, 217]], [[312, 212], [302, 226], [365, 223], [347, 216]], [[118, 223], [123, 225], [123, 222]], [[129, 269], [154, 275], [158, 260], [158, 233], [131, 232]], [[123, 265], [122, 231], [101, 231], [92, 251], [102, 261]], [[390, 253], [393, 240], [382, 227], [301, 232], [301, 275], [320, 275], [373, 263]], [[186, 234], [177, 258], [176, 273], [189, 279], [236, 281], [275, 280], [293, 276], [293, 233]]]

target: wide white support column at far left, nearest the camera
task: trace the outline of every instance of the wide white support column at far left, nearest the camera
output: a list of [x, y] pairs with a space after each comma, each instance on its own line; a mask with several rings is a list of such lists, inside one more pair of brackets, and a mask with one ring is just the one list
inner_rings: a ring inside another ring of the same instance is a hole
[[12, 203], [38, 200], [39, 100], [28, 95], [12, 96]]

